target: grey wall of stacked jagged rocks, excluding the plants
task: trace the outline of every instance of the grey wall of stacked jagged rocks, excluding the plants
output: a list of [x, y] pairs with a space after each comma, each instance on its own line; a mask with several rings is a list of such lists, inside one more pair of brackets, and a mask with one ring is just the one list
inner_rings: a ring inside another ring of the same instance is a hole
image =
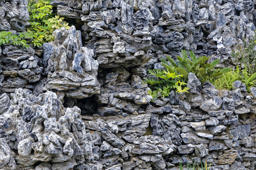
[[[27, 1], [0, 4], [0, 31], [24, 31]], [[51, 4], [71, 29], [42, 48], [0, 48], [0, 169], [255, 169], [256, 88], [218, 91], [189, 74], [188, 94], [151, 102], [142, 82], [181, 49], [230, 65], [254, 36], [254, 1]]]

